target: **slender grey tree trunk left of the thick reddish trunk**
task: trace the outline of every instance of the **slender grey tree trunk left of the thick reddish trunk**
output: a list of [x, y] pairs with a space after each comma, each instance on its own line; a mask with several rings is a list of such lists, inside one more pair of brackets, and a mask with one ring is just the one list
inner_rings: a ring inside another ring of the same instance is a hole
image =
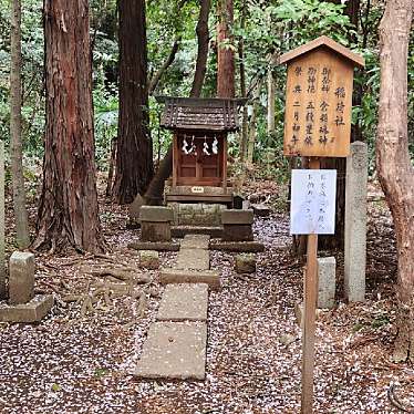
[[13, 208], [15, 217], [17, 242], [19, 248], [30, 245], [28, 210], [22, 163], [21, 134], [21, 2], [12, 1], [11, 12], [11, 68], [10, 68], [10, 135], [11, 173], [13, 187]]

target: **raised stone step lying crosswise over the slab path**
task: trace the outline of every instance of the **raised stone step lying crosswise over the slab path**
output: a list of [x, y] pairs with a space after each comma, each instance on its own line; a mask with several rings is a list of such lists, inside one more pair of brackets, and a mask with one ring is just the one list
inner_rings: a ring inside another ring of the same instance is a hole
[[217, 270], [162, 269], [161, 282], [169, 283], [207, 283], [210, 289], [220, 289], [220, 273]]

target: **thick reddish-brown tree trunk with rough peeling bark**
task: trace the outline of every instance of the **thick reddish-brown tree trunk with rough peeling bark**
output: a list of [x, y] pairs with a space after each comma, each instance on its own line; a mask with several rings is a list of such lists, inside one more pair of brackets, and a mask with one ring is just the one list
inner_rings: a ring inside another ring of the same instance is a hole
[[46, 123], [34, 248], [99, 251], [87, 0], [45, 0]]

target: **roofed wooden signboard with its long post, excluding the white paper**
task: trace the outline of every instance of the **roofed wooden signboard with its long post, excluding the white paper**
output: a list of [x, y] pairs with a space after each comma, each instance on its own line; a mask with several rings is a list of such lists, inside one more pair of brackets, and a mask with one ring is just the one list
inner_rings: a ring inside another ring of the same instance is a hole
[[[288, 64], [283, 154], [310, 157], [311, 169], [320, 168], [321, 157], [346, 157], [353, 70], [364, 66], [363, 58], [323, 35], [283, 54], [279, 63]], [[317, 253], [318, 234], [309, 234], [303, 289], [303, 414], [313, 412]]]

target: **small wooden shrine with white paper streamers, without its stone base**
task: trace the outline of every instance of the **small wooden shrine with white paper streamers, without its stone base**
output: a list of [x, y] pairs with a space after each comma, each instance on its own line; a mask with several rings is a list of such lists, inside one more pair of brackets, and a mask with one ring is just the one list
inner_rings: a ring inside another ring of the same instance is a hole
[[227, 184], [227, 134], [239, 128], [244, 100], [158, 96], [161, 126], [173, 131], [173, 183], [167, 201], [232, 204]]

